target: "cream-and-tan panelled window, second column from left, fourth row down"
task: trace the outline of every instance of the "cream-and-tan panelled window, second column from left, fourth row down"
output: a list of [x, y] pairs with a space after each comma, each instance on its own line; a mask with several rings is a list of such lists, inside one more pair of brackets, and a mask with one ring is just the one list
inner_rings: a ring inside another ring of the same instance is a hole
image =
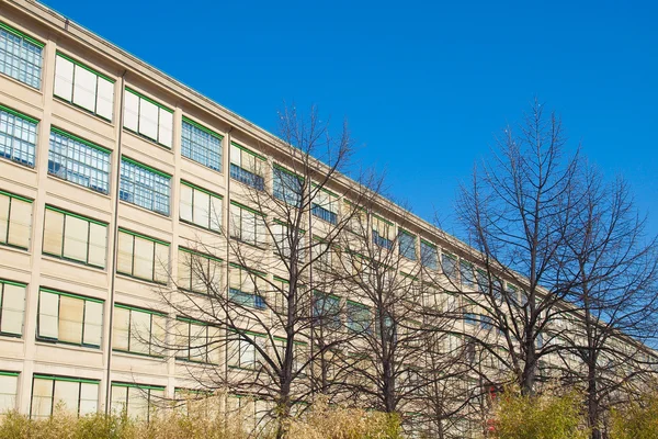
[[100, 348], [103, 301], [42, 288], [36, 324], [38, 340]]

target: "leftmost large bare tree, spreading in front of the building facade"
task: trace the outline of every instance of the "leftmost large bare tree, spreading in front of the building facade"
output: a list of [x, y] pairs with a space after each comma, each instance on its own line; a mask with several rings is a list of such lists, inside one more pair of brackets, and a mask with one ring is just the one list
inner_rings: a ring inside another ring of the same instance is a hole
[[[314, 269], [351, 219], [339, 200], [349, 192], [362, 202], [365, 188], [376, 183], [350, 183], [339, 175], [353, 148], [347, 124], [334, 137], [315, 109], [305, 119], [294, 108], [279, 122], [276, 147], [258, 145], [270, 158], [231, 144], [224, 239], [189, 243], [175, 288], [161, 296], [177, 316], [168, 348], [194, 352], [196, 360], [204, 352], [190, 375], [208, 390], [268, 402], [261, 410], [279, 420], [282, 437], [283, 420], [322, 390], [314, 364], [345, 342], [314, 340], [314, 291], [333, 289]], [[198, 334], [181, 336], [180, 322], [195, 324]], [[212, 329], [204, 333], [200, 323]]]

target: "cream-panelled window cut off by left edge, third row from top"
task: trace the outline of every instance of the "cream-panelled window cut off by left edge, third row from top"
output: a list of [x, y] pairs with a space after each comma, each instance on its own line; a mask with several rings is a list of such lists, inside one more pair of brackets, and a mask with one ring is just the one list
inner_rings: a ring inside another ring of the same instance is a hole
[[30, 248], [32, 200], [0, 191], [0, 244]]

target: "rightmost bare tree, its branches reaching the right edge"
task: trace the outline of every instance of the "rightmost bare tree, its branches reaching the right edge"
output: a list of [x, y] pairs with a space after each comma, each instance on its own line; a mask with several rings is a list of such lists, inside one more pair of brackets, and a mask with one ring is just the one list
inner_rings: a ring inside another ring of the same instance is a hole
[[568, 275], [576, 282], [569, 306], [554, 312], [568, 323], [553, 334], [578, 360], [557, 365], [567, 382], [585, 383], [589, 426], [599, 439], [610, 406], [627, 401], [656, 371], [658, 359], [647, 345], [658, 334], [657, 239], [646, 238], [646, 218], [638, 216], [623, 179], [605, 182], [589, 166], [579, 190], [567, 243]]

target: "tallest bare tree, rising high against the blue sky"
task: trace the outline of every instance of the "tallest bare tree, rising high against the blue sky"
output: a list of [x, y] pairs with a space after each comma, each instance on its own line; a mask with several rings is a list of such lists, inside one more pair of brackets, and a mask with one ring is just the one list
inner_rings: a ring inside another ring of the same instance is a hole
[[[480, 344], [526, 394], [537, 369], [556, 348], [543, 342], [553, 309], [575, 280], [565, 273], [572, 260], [567, 244], [580, 200], [575, 190], [578, 154], [568, 156], [561, 123], [535, 102], [520, 133], [508, 127], [491, 160], [476, 168], [457, 202], [469, 243], [478, 250], [472, 277], [477, 288], [460, 289], [496, 328], [496, 344]], [[504, 347], [504, 358], [495, 349]]]

